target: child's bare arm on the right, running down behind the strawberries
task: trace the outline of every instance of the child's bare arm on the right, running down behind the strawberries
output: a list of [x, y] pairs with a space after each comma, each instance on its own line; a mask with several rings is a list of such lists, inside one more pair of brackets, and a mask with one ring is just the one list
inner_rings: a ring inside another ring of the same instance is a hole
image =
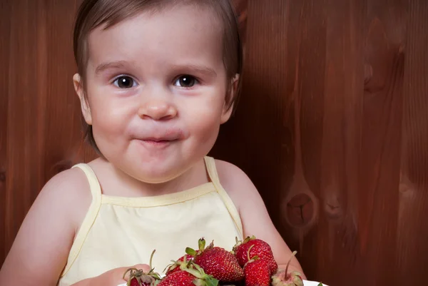
[[[280, 269], [285, 269], [292, 251], [278, 233], [270, 219], [265, 203], [255, 185], [242, 170], [235, 165], [224, 161], [217, 161], [220, 180], [235, 203], [243, 222], [244, 236], [255, 235], [256, 238], [265, 240], [272, 247], [273, 255]], [[263, 228], [261, 226], [263, 225]], [[288, 272], [298, 271], [306, 280], [300, 263], [292, 258]]]

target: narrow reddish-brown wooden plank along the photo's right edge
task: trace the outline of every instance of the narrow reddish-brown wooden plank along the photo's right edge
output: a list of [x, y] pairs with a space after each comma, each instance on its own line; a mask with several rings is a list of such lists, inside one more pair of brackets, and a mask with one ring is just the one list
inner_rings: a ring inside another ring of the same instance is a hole
[[409, 1], [397, 231], [397, 284], [426, 285], [428, 265], [428, 2]]

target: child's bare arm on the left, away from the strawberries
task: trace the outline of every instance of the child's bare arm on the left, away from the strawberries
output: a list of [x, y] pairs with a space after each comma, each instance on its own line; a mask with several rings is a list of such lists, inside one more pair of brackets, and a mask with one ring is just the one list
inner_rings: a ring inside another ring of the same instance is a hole
[[0, 285], [57, 285], [78, 225], [91, 203], [86, 178], [66, 170], [31, 206], [0, 270]]

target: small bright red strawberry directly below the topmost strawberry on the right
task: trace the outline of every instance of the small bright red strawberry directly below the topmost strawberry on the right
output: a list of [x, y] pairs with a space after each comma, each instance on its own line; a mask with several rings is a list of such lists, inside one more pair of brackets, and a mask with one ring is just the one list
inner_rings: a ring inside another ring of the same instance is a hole
[[270, 286], [270, 269], [267, 260], [254, 257], [244, 266], [245, 286]]

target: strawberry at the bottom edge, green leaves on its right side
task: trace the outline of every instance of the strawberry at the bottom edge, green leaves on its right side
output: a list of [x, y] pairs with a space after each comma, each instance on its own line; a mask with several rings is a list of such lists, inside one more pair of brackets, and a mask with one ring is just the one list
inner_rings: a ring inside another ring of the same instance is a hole
[[191, 264], [185, 270], [178, 270], [163, 277], [157, 286], [218, 286], [218, 280], [207, 275], [198, 265]]

